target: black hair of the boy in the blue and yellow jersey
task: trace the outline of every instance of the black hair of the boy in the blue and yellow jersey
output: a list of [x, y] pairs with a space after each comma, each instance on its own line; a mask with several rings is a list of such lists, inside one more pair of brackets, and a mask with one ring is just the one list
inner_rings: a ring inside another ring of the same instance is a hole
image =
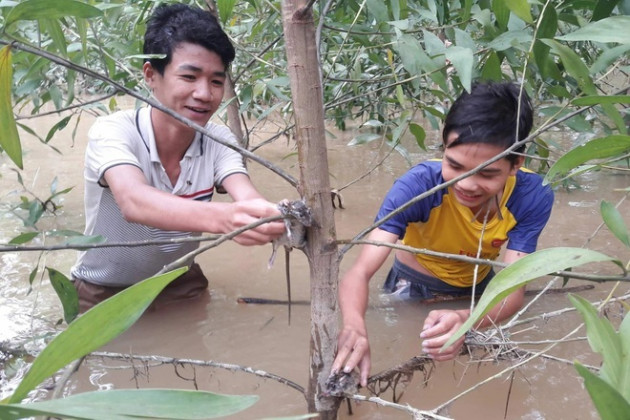
[[[464, 143], [488, 143], [507, 149], [529, 135], [533, 125], [532, 104], [523, 90], [514, 83], [476, 83], [470, 93], [464, 92], [453, 103], [444, 121], [442, 141], [446, 148]], [[518, 126], [518, 133], [516, 132]], [[450, 144], [446, 140], [451, 133], [458, 137]], [[522, 152], [525, 145], [515, 152]], [[514, 163], [517, 155], [507, 159]]]

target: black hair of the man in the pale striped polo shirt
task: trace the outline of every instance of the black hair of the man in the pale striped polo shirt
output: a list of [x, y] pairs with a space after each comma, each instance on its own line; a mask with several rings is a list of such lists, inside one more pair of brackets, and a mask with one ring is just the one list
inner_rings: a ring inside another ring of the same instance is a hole
[[221, 57], [226, 70], [234, 60], [234, 46], [210, 12], [180, 3], [158, 6], [147, 23], [143, 52], [164, 54], [166, 57], [145, 61], [163, 75], [171, 62], [173, 50], [182, 42], [201, 45], [215, 52]]

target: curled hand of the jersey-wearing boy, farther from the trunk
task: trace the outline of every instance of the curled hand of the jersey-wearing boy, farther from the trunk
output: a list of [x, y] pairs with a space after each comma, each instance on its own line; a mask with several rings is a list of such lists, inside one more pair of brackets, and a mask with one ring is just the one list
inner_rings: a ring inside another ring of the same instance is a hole
[[443, 309], [429, 312], [420, 333], [420, 338], [423, 339], [422, 350], [437, 361], [454, 359], [461, 352], [464, 336], [444, 351], [440, 352], [440, 349], [467, 319], [468, 311]]

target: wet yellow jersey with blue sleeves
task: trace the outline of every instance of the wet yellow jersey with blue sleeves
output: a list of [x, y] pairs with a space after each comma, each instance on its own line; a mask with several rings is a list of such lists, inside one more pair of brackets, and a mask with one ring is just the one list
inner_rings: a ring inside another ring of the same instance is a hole
[[[443, 182], [441, 160], [416, 165], [396, 180], [376, 220]], [[499, 203], [501, 217], [495, 214], [485, 228], [470, 208], [457, 201], [450, 188], [414, 203], [379, 227], [397, 234], [405, 245], [414, 248], [470, 257], [477, 256], [483, 230], [479, 257], [494, 260], [506, 242], [508, 249], [534, 252], [552, 205], [551, 188], [542, 185], [539, 175], [520, 169], [516, 175], [508, 177], [504, 187]], [[416, 259], [435, 277], [452, 286], [472, 285], [474, 264], [424, 254], [416, 254]], [[480, 265], [477, 278], [483, 279], [490, 268]]]

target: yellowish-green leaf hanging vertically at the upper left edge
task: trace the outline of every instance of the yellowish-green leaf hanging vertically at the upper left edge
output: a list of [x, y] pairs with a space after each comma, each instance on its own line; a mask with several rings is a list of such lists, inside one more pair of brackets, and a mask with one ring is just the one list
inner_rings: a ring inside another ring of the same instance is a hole
[[11, 104], [11, 84], [13, 67], [11, 63], [11, 46], [0, 50], [0, 147], [6, 152], [15, 165], [24, 169], [22, 163], [22, 145], [15, 125], [13, 105]]

